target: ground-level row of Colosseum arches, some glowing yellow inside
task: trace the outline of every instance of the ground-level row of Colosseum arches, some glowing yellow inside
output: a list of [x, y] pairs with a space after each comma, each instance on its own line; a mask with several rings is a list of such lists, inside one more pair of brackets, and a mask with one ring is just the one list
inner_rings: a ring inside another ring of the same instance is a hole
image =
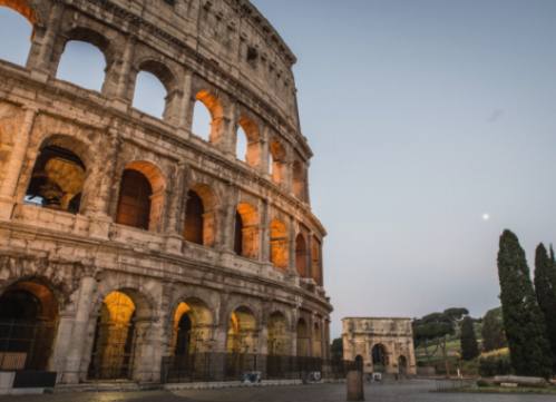
[[[118, 288], [104, 296], [90, 316], [92, 336], [85, 345], [89, 351], [85, 359], [87, 378], [134, 379], [137, 371], [144, 370], [156, 314], [148, 297], [138, 291]], [[0, 295], [0, 369], [48, 370], [59, 318], [60, 304], [47, 282], [22, 280], [4, 290]], [[184, 359], [213, 352], [222, 329], [226, 334], [223, 352], [228, 355], [322, 357], [325, 336], [321, 323], [315, 321], [311, 327], [301, 317], [292, 329], [289, 315], [282, 311], [272, 312], [263, 324], [250, 306], [240, 305], [227, 321], [217, 323], [208, 304], [194, 296], [179, 301], [168, 318], [163, 355]]]

